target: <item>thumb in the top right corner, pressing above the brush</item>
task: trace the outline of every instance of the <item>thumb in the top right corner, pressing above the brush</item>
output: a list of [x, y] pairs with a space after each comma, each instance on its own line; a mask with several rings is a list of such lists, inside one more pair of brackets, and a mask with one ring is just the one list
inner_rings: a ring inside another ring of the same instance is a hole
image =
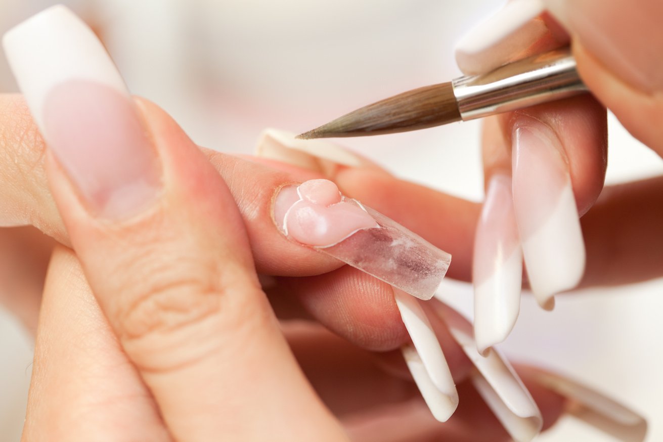
[[663, 2], [544, 0], [572, 36], [579, 74], [631, 134], [663, 156]]

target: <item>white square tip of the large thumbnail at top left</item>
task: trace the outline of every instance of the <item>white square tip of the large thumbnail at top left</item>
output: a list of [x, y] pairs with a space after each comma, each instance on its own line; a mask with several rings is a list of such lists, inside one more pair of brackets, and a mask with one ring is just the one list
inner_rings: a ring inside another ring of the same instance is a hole
[[59, 83], [90, 81], [126, 93], [125, 83], [97, 36], [62, 5], [9, 30], [3, 36], [3, 46], [32, 115], [42, 128], [44, 97]]

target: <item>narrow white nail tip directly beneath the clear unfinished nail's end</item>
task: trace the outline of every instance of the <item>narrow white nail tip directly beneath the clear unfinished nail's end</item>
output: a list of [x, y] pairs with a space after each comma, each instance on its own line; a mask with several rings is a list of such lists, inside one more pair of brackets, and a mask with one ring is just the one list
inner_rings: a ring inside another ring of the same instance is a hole
[[397, 288], [393, 290], [405, 328], [412, 338], [412, 343], [426, 367], [432, 383], [446, 396], [457, 396], [451, 371], [426, 313], [414, 296]]

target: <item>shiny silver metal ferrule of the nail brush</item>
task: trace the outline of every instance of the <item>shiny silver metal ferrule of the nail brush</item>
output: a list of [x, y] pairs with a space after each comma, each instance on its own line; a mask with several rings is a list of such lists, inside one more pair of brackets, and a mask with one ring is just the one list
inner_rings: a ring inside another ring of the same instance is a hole
[[488, 74], [453, 80], [463, 120], [514, 111], [586, 92], [569, 48], [546, 52]]

